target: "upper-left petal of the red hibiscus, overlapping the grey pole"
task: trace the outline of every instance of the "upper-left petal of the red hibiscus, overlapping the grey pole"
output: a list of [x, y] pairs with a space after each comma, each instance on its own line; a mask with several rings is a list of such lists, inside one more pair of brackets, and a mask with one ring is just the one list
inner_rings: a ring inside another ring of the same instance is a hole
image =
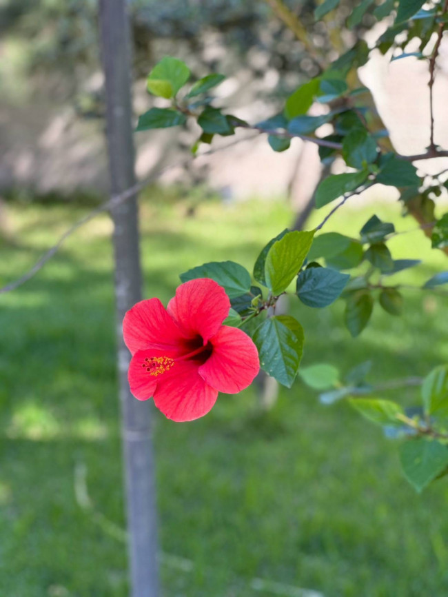
[[174, 348], [181, 354], [185, 339], [159, 298], [140, 301], [125, 314], [123, 337], [132, 354], [147, 348]]

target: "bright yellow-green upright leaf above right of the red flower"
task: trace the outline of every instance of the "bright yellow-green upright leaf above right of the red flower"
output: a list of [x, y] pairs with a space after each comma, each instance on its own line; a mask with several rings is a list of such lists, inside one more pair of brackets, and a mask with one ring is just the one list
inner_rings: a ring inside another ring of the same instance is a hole
[[265, 279], [274, 296], [286, 290], [298, 274], [313, 237], [314, 230], [288, 232], [269, 249], [265, 261]]

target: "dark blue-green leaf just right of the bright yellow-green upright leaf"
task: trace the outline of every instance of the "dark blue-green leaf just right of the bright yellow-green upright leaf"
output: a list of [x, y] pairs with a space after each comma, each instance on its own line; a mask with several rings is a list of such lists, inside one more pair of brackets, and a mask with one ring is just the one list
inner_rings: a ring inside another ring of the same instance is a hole
[[327, 307], [340, 296], [349, 279], [349, 274], [327, 267], [311, 267], [298, 274], [297, 296], [308, 307]]

